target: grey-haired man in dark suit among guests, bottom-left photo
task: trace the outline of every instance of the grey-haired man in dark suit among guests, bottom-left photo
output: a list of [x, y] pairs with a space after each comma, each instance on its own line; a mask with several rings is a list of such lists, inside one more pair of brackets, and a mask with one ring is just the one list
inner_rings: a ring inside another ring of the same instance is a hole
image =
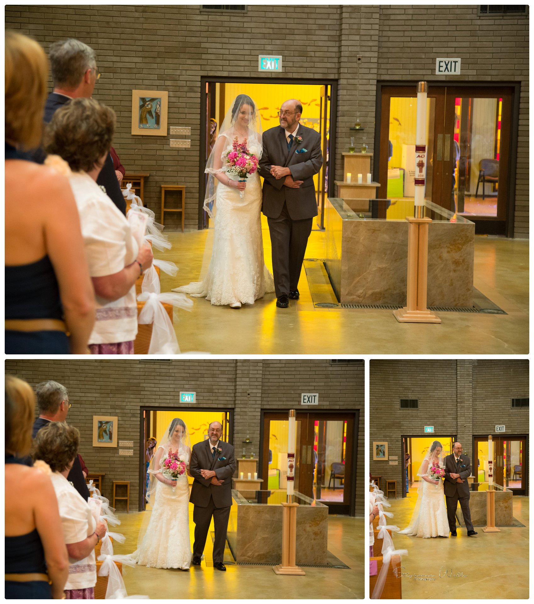
[[[35, 387], [37, 396], [37, 406], [39, 407], [39, 417], [33, 424], [32, 438], [35, 438], [37, 432], [46, 426], [49, 422], [65, 422], [71, 403], [69, 403], [69, 393], [65, 386], [49, 380], [41, 382]], [[71, 471], [67, 480], [71, 481], [74, 488], [80, 493], [83, 500], [89, 498], [89, 489], [85, 484], [85, 478], [82, 472], [82, 464], [78, 455], [74, 458]]]

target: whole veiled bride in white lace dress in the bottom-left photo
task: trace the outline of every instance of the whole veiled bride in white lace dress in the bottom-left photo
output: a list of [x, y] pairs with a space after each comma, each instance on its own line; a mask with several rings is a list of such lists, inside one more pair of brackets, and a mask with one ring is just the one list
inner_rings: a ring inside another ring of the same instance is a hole
[[[185, 423], [176, 417], [165, 431], [150, 462], [147, 501], [152, 505], [152, 512], [145, 512], [150, 514], [150, 518], [143, 522], [137, 550], [131, 554], [141, 566], [189, 570], [191, 543], [187, 476], [190, 475], [190, 445]], [[178, 451], [180, 460], [187, 466], [187, 474], [182, 474], [177, 480], [170, 480], [163, 474], [163, 462], [169, 449]]]

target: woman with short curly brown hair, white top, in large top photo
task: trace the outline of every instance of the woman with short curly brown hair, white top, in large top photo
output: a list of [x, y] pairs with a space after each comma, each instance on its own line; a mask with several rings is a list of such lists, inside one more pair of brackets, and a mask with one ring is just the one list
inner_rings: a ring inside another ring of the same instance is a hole
[[[93, 355], [133, 355], [137, 335], [135, 281], [152, 266], [152, 248], [138, 246], [129, 222], [96, 179], [109, 155], [115, 113], [92, 98], [75, 98], [54, 114], [45, 149], [60, 155], [80, 213], [97, 320], [89, 337]], [[48, 160], [47, 160], [48, 161]]]

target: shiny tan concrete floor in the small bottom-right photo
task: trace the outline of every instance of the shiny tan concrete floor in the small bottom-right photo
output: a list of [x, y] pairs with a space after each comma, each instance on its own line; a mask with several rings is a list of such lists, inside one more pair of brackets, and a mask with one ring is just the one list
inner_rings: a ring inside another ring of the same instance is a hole
[[[394, 517], [388, 524], [405, 528], [417, 499], [411, 489], [404, 499], [390, 500]], [[500, 533], [484, 533], [468, 537], [465, 528], [457, 529], [457, 537], [419, 539], [394, 535], [396, 549], [408, 550], [402, 558], [403, 573], [433, 575], [434, 580], [402, 578], [402, 598], [447, 600], [466, 599], [528, 599], [529, 597], [529, 498], [513, 498], [513, 517], [525, 525], [499, 527]], [[463, 573], [465, 576], [446, 576]], [[452, 573], [451, 573], [452, 571]]]

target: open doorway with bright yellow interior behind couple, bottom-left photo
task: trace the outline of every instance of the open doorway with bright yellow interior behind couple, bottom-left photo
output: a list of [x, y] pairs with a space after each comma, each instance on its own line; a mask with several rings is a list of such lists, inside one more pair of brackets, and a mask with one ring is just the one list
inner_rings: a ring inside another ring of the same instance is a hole
[[[199, 411], [190, 408], [141, 408], [141, 433], [140, 433], [140, 452], [139, 452], [139, 510], [146, 507], [146, 442], [153, 437], [156, 439], [156, 448], [161, 442], [162, 436], [167, 426], [175, 417], [182, 419], [187, 426], [191, 439], [191, 446], [196, 443], [207, 440], [208, 426], [210, 422], [220, 422], [222, 424], [221, 440], [231, 442], [233, 438], [233, 411], [224, 409], [202, 409]], [[188, 477], [189, 485], [193, 484], [193, 478]]]

